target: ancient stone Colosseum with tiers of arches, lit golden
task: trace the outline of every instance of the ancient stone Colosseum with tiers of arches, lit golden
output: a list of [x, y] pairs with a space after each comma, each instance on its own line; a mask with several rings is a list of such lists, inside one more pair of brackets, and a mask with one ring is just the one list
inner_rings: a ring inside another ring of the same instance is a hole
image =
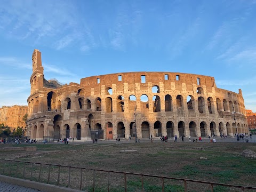
[[[41, 52], [32, 55], [28, 97], [30, 138], [75, 140], [207, 137], [248, 133], [242, 90], [219, 89], [214, 77], [134, 72], [47, 81]], [[137, 133], [137, 134], [136, 134]]]

